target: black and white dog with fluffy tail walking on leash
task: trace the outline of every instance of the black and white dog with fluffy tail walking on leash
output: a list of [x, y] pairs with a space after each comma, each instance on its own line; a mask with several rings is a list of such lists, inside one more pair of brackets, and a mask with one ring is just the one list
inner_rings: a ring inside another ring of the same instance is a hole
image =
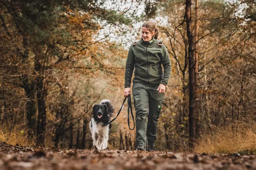
[[105, 126], [102, 124], [110, 122], [110, 118], [114, 115], [115, 111], [110, 103], [110, 100], [104, 99], [100, 102], [100, 104], [94, 105], [93, 117], [90, 121], [90, 130], [95, 149], [101, 150], [108, 147], [111, 123]]

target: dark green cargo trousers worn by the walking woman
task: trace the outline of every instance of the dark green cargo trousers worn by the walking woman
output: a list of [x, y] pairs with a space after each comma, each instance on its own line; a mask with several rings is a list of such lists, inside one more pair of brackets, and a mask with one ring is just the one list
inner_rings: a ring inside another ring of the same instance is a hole
[[[146, 86], [133, 83], [132, 95], [136, 111], [136, 141], [137, 146], [146, 146], [156, 141], [157, 124], [161, 112], [164, 94], [158, 94], [158, 86]], [[148, 120], [147, 120], [148, 118]]]

